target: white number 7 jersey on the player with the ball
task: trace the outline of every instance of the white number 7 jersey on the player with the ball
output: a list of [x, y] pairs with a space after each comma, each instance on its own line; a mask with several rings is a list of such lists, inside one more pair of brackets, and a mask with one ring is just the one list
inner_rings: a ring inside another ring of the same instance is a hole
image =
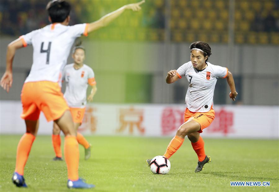
[[189, 61], [178, 68], [178, 77], [185, 76], [190, 82], [185, 97], [186, 107], [191, 112], [207, 112], [213, 107], [214, 88], [217, 78], [225, 78], [228, 69], [209, 62], [201, 71], [195, 69]]

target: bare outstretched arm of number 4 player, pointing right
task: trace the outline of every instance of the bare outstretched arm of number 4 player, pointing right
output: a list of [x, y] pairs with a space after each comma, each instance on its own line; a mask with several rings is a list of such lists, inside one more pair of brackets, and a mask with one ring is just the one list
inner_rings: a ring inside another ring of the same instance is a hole
[[94, 30], [97, 30], [101, 27], [107, 26], [111, 21], [115, 20], [125, 10], [133, 10], [133, 11], [141, 10], [142, 8], [140, 7], [140, 5], [142, 5], [142, 3], [144, 3], [144, 2], [145, 2], [145, 0], [142, 0], [141, 2], [124, 5], [123, 7], [120, 7], [119, 9], [103, 16], [101, 19], [90, 23], [88, 26], [88, 33], [92, 32]]

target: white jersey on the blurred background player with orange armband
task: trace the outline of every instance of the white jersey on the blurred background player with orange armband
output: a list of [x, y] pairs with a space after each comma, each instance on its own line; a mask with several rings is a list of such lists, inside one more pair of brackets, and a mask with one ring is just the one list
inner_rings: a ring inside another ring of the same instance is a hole
[[66, 82], [64, 98], [69, 107], [84, 108], [88, 84], [96, 85], [92, 68], [85, 64], [79, 69], [74, 68], [74, 63], [66, 65], [63, 80]]

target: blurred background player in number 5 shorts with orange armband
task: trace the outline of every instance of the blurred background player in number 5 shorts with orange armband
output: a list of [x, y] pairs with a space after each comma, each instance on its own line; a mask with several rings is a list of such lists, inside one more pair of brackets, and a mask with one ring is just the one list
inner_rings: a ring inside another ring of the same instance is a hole
[[[70, 107], [70, 112], [74, 121], [74, 129], [77, 130], [82, 123], [85, 113], [86, 90], [88, 84], [92, 86], [91, 93], [87, 98], [88, 101], [93, 100], [94, 94], [97, 91], [97, 86], [92, 68], [83, 64], [85, 59], [85, 48], [81, 46], [81, 42], [74, 47], [72, 58], [74, 59], [74, 63], [66, 65], [63, 71], [63, 81], [66, 82], [64, 98]], [[53, 122], [52, 144], [56, 154], [53, 160], [62, 160], [60, 132], [61, 129], [59, 126]], [[77, 132], [77, 141], [85, 149], [85, 160], [89, 159], [91, 155], [91, 145], [79, 132]]]

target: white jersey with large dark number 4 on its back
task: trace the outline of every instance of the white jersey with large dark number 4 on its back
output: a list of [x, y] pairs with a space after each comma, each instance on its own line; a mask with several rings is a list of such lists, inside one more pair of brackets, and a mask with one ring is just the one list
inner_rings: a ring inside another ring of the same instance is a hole
[[33, 46], [33, 64], [25, 82], [61, 80], [70, 49], [77, 37], [87, 36], [88, 24], [66, 26], [50, 24], [20, 38], [24, 46]]

